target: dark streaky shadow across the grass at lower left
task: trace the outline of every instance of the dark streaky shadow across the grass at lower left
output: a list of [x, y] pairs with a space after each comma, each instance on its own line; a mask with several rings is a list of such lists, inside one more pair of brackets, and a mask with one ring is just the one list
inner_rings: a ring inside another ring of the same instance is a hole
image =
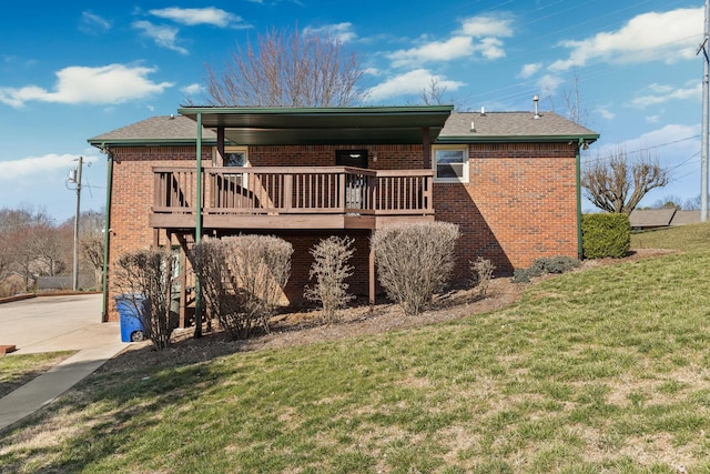
[[[220, 351], [206, 356], [190, 345], [184, 341], [162, 352], [145, 346], [120, 354], [52, 404], [1, 432], [0, 473], [81, 472], [144, 442], [146, 430], [164, 423], [163, 413], [180, 411], [220, 377], [220, 371], [201, 363]], [[222, 354], [233, 352], [233, 344], [231, 350], [224, 345]], [[145, 363], [145, 357], [153, 362]]]

